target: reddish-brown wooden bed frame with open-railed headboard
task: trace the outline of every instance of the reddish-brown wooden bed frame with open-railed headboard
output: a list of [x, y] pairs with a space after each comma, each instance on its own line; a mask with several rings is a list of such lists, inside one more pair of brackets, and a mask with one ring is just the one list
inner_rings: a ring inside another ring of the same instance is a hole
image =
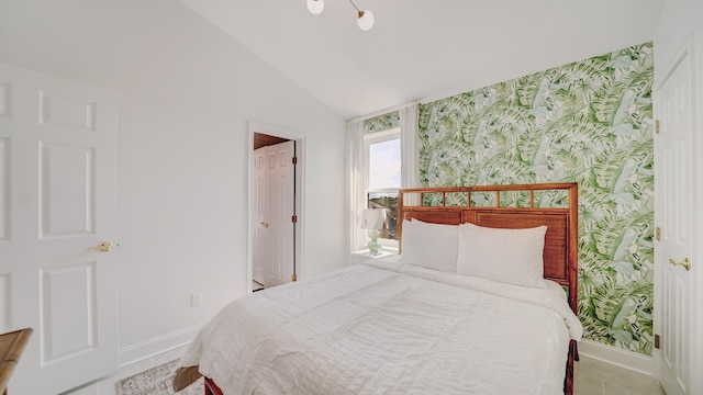
[[[559, 193], [559, 191], [566, 193], [565, 206], [536, 206], [535, 195], [538, 198], [540, 193]], [[518, 194], [524, 204], [520, 207], [504, 206], [501, 199], [507, 194]], [[490, 202], [490, 205], [479, 206], [471, 203], [477, 195], [482, 198], [482, 201]], [[435, 198], [433, 202], [438, 201], [438, 203], [432, 206], [422, 205], [422, 202], [431, 196]], [[453, 205], [448, 202], [451, 200], [467, 203]], [[411, 204], [411, 201], [419, 204]], [[545, 278], [568, 289], [569, 306], [574, 314], [578, 314], [578, 185], [576, 182], [403, 189], [400, 191], [398, 202], [397, 230], [401, 248], [403, 219], [413, 218], [436, 224], [472, 223], [495, 228], [529, 228], [546, 225]], [[573, 394], [574, 360], [578, 361], [577, 343], [570, 340], [563, 381], [566, 395]], [[205, 395], [223, 395], [211, 379], [205, 377], [204, 382]]]

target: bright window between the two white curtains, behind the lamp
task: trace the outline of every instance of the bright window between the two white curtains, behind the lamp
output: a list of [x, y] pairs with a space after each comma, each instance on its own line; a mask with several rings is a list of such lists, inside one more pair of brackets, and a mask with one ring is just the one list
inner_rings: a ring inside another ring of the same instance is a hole
[[398, 190], [401, 179], [400, 128], [367, 134], [364, 137], [368, 173], [367, 206], [387, 210], [386, 229], [379, 230], [384, 247], [398, 248]]

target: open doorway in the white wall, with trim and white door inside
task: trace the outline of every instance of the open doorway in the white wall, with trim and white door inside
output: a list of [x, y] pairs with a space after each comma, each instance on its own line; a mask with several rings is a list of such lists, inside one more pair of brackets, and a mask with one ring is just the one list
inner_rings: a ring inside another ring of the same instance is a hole
[[249, 125], [249, 292], [302, 273], [302, 135]]

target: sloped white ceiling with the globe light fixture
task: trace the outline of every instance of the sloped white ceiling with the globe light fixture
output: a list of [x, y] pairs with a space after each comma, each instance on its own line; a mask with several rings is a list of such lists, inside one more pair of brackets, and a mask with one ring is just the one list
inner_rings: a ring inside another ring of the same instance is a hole
[[181, 0], [345, 119], [649, 42], [665, 0]]

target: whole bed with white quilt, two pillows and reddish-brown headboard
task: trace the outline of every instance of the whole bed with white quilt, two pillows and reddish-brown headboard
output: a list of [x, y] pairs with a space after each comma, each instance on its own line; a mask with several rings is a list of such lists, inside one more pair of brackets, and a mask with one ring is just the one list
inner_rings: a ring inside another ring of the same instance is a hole
[[572, 394], [577, 184], [404, 189], [398, 213], [400, 257], [233, 302], [174, 390]]

